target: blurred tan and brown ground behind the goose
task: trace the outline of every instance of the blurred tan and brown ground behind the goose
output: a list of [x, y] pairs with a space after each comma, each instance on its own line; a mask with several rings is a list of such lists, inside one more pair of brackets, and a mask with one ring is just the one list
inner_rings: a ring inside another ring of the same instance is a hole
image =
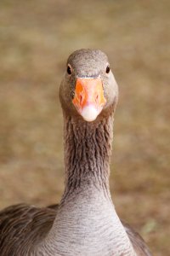
[[156, 256], [170, 255], [170, 2], [0, 1], [0, 208], [59, 202], [59, 82], [75, 49], [102, 49], [119, 84], [111, 192]]

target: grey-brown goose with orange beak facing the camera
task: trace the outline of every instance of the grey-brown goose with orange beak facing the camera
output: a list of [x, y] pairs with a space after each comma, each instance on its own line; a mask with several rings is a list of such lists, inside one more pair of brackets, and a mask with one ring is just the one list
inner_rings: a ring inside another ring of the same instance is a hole
[[116, 214], [109, 187], [113, 116], [118, 99], [107, 56], [79, 49], [59, 87], [64, 117], [65, 190], [58, 205], [0, 212], [1, 256], [150, 256]]

